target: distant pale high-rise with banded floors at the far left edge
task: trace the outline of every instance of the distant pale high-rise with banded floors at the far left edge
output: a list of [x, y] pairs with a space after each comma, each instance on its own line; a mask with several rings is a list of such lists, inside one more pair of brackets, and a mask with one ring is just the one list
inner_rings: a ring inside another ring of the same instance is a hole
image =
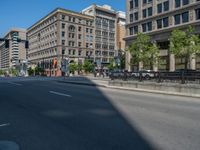
[[26, 60], [25, 42], [18, 42], [18, 39], [26, 41], [25, 29], [13, 28], [3, 39], [9, 41], [9, 47], [5, 47], [5, 41], [0, 42], [0, 69], [16, 67], [17, 63]]

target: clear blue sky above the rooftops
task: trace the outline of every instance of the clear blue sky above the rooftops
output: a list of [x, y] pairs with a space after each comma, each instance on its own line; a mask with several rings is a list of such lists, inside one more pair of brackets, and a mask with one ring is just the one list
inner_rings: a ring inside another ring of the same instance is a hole
[[108, 4], [125, 11], [126, 0], [1, 0], [0, 37], [12, 27], [28, 28], [56, 7], [81, 11], [91, 4]]

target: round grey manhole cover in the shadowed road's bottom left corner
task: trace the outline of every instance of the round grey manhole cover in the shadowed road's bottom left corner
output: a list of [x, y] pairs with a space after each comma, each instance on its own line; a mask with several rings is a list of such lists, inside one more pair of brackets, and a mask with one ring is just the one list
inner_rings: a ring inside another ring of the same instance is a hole
[[19, 146], [12, 141], [0, 141], [0, 150], [19, 150]]

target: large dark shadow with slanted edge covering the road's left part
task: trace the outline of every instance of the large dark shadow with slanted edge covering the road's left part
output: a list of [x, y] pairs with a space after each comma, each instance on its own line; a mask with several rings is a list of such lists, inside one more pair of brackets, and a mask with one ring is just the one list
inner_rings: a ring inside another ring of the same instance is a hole
[[155, 149], [95, 86], [30, 81], [20, 87], [0, 85], [0, 90], [9, 92], [6, 101], [0, 94], [0, 113], [9, 109], [6, 117], [11, 123], [16, 119], [9, 132], [0, 129], [0, 139], [16, 138], [22, 150]]

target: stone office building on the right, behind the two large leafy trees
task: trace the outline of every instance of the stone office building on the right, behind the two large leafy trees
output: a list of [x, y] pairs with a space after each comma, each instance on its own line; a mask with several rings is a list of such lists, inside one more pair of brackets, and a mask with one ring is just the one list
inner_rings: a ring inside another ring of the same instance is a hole
[[[200, 34], [200, 1], [126, 0], [126, 7], [126, 46], [134, 41], [138, 32], [145, 33], [160, 47], [160, 70], [174, 71], [184, 68], [184, 59], [175, 58], [169, 52], [169, 37], [172, 30], [185, 30], [189, 25], [194, 27], [196, 34]], [[130, 54], [127, 59], [130, 61]], [[129, 63], [126, 67], [133, 69]], [[191, 59], [190, 68], [200, 69], [199, 54]]]

